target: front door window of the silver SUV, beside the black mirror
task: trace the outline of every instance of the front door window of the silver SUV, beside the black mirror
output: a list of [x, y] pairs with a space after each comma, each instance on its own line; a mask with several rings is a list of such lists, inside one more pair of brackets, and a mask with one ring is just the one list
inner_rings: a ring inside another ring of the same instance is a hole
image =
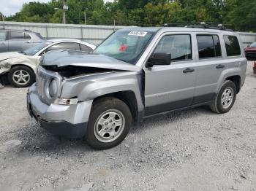
[[191, 37], [189, 34], [164, 36], [154, 52], [170, 54], [172, 61], [192, 59]]

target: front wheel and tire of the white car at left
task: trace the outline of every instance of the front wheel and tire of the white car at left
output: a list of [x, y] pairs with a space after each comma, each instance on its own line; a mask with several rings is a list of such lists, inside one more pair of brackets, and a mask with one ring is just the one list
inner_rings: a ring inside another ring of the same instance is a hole
[[15, 66], [8, 74], [9, 82], [15, 87], [29, 87], [35, 79], [34, 71], [27, 66]]

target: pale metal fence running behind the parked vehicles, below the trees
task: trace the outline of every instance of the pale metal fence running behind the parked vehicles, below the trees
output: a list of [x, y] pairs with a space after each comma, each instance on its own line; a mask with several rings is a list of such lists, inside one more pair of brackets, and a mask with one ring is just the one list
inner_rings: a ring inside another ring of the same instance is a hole
[[[72, 38], [99, 44], [103, 39], [113, 33], [113, 31], [120, 28], [127, 28], [127, 26], [4, 22], [0, 23], [0, 28], [31, 30], [40, 33], [45, 39]], [[254, 33], [238, 32], [238, 34], [241, 36], [244, 47], [252, 42], [256, 42], [256, 34]]]

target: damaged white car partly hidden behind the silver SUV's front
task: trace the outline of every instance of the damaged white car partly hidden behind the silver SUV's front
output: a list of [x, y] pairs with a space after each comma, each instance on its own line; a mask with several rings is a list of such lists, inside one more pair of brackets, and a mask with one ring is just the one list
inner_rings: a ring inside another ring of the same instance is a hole
[[0, 79], [15, 87], [29, 87], [36, 79], [39, 59], [46, 52], [61, 49], [91, 52], [95, 48], [94, 44], [77, 39], [51, 39], [21, 52], [0, 53]]

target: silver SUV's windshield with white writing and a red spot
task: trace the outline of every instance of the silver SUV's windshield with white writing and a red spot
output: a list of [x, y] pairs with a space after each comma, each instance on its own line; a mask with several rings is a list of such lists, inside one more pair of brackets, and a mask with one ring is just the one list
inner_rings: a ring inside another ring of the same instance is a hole
[[94, 53], [135, 64], [153, 35], [153, 32], [146, 31], [116, 31]]

